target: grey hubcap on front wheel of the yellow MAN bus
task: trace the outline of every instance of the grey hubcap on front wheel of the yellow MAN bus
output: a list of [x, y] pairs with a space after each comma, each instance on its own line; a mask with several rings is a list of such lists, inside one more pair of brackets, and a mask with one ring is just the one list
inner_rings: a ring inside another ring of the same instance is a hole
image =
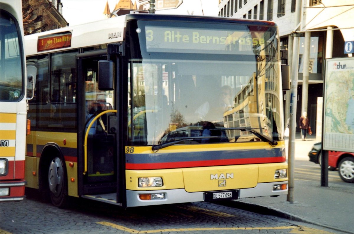
[[62, 189], [63, 166], [61, 160], [56, 157], [49, 165], [48, 183], [50, 191], [57, 195]]

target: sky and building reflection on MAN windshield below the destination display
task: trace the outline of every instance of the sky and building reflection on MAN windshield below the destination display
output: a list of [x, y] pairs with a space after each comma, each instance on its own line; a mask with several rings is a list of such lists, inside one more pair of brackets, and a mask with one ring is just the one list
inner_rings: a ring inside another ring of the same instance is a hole
[[[261, 141], [247, 131], [218, 130], [237, 127], [257, 128], [278, 140], [279, 87], [265, 75], [257, 77], [255, 63], [132, 63], [130, 140], [137, 145], [182, 138], [194, 138], [189, 144]], [[234, 71], [238, 75], [231, 75]]]

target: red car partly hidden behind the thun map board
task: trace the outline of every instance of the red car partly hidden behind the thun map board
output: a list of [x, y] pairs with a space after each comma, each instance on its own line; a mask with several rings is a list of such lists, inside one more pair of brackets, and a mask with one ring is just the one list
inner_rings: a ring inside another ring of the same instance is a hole
[[354, 153], [328, 151], [328, 165], [338, 168], [344, 182], [354, 183]]

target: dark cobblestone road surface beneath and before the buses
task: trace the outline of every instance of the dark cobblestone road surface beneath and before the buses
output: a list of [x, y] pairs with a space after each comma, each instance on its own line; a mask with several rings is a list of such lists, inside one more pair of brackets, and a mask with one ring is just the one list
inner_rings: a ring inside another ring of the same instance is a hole
[[35, 198], [0, 204], [0, 233], [338, 233], [311, 224], [212, 203], [127, 210], [74, 199], [59, 209]]

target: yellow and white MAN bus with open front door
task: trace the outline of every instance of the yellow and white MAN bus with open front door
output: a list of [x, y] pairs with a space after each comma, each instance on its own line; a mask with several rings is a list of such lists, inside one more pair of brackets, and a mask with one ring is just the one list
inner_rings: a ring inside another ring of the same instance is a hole
[[[129, 14], [25, 43], [38, 71], [27, 186], [55, 206], [70, 196], [125, 208], [287, 194], [274, 23]], [[241, 109], [257, 119], [237, 125]]]

